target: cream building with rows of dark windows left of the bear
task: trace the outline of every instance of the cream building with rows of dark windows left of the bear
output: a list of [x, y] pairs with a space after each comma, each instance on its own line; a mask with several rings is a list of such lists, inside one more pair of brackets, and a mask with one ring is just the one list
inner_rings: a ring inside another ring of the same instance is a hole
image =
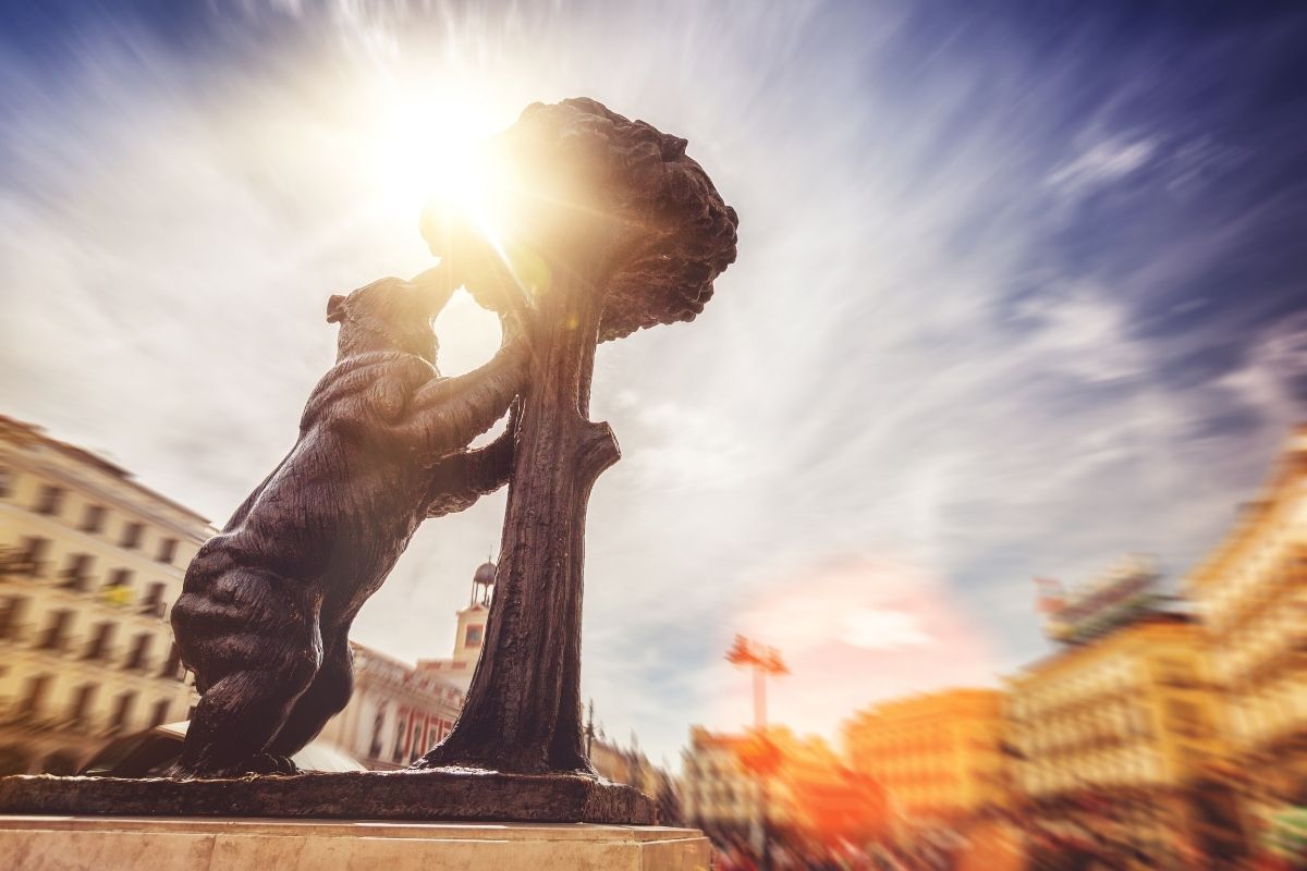
[[71, 773], [184, 720], [169, 609], [213, 534], [123, 469], [0, 417], [0, 773]]

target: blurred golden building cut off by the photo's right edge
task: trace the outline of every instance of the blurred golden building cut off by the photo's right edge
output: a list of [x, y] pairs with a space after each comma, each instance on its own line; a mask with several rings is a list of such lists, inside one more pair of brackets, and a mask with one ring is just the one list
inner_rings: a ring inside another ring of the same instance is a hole
[[1248, 810], [1307, 803], [1307, 427], [1185, 592], [1210, 636]]

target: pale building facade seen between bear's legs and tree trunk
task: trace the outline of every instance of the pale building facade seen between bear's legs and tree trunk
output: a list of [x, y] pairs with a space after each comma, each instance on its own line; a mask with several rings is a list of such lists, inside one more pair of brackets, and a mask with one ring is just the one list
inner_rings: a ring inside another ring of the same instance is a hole
[[444, 739], [463, 708], [463, 691], [435, 674], [350, 641], [354, 695], [320, 740], [372, 770], [408, 767]]

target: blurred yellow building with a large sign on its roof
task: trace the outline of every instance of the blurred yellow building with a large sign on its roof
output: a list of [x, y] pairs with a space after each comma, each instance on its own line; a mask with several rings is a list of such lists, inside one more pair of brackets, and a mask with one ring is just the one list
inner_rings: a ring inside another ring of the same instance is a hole
[[1201, 628], [1142, 611], [1009, 680], [1008, 744], [1031, 816], [1098, 808], [1133, 836], [1192, 831], [1189, 790], [1221, 759]]

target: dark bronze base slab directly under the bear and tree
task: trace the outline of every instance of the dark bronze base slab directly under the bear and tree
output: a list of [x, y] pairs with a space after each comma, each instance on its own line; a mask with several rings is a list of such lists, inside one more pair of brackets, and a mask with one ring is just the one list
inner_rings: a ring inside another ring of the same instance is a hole
[[4, 814], [298, 816], [655, 825], [639, 790], [582, 776], [456, 772], [260, 774], [234, 780], [0, 778]]

